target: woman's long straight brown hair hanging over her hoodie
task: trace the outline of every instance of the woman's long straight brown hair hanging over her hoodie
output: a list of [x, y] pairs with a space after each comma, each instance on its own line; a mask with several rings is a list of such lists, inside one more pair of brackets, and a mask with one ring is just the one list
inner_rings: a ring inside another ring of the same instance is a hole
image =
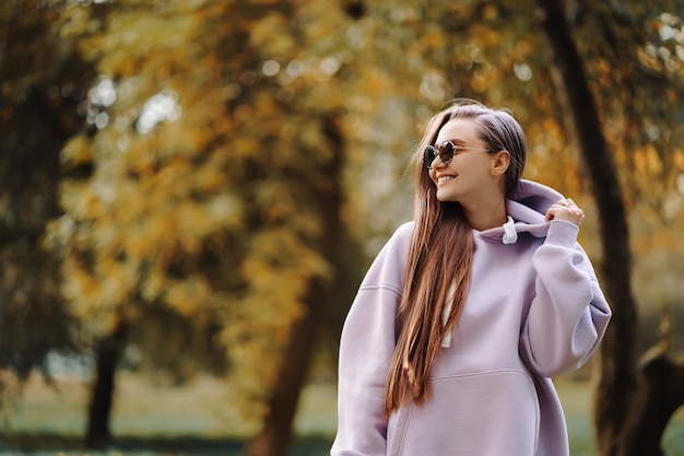
[[[399, 307], [397, 347], [385, 390], [387, 417], [409, 397], [415, 404], [423, 404], [429, 398], [433, 361], [445, 336], [457, 324], [468, 297], [473, 255], [472, 230], [458, 202], [437, 199], [435, 184], [423, 163], [425, 148], [435, 143], [439, 130], [453, 118], [475, 120], [480, 137], [492, 153], [508, 151], [510, 165], [505, 176], [506, 195], [515, 189], [524, 167], [524, 136], [519, 124], [506, 110], [461, 100], [428, 121], [410, 165], [416, 174], [415, 226]], [[443, 316], [449, 305], [451, 309], [445, 324]]]

